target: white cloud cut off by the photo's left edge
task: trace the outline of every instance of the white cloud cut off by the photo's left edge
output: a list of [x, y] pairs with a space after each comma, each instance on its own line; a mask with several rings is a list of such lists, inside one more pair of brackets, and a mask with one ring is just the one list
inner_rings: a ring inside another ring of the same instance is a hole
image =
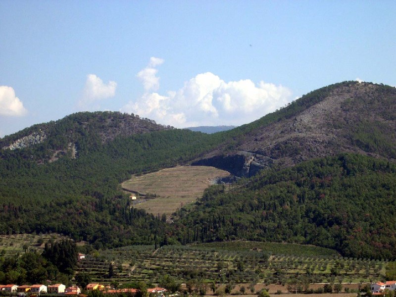
[[0, 86], [0, 115], [23, 116], [27, 113], [22, 101], [11, 87]]

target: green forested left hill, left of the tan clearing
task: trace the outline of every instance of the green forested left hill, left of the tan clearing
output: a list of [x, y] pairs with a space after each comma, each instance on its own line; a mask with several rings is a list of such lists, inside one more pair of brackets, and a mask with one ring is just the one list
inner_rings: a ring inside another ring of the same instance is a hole
[[[46, 133], [40, 143], [0, 150], [0, 234], [55, 232], [95, 247], [172, 237], [171, 226], [131, 207], [119, 187], [131, 174], [185, 163], [210, 146], [206, 134], [164, 128], [120, 113], [79, 113], [2, 139], [9, 145], [37, 129]], [[69, 142], [75, 156], [66, 151], [48, 162]]]

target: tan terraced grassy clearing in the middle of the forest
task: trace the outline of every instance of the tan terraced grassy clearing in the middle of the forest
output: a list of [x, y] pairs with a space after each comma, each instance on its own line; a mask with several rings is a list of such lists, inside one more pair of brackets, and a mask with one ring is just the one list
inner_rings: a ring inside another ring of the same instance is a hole
[[153, 214], [171, 214], [178, 208], [195, 202], [203, 191], [217, 177], [230, 175], [229, 172], [208, 166], [177, 166], [154, 173], [133, 176], [121, 186], [143, 194], [159, 197], [147, 199], [135, 205]]

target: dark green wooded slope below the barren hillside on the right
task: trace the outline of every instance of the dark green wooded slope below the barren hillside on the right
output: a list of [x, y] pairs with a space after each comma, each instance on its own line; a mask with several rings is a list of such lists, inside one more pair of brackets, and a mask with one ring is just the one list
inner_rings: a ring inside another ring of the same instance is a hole
[[[274, 166], [179, 211], [186, 241], [293, 242], [396, 258], [396, 165], [359, 154]], [[186, 231], [187, 232], [187, 231]]]

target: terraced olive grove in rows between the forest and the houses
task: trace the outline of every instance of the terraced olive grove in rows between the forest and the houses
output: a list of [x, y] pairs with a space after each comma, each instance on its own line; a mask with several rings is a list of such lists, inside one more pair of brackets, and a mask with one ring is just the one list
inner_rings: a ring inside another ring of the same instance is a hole
[[[271, 245], [271, 244], [268, 244]], [[270, 247], [277, 250], [277, 246]], [[285, 245], [288, 246], [288, 245]], [[291, 245], [289, 250], [298, 250]], [[301, 248], [300, 248], [301, 249]], [[287, 247], [283, 251], [288, 251]], [[306, 276], [310, 283], [365, 283], [385, 274], [386, 261], [344, 258], [337, 253], [321, 255], [311, 247], [297, 255], [269, 253], [263, 249], [218, 249], [213, 245], [120, 247], [104, 250], [99, 257], [81, 262], [80, 271], [89, 272], [93, 281], [120, 283], [149, 281], [157, 283], [169, 274], [185, 283], [199, 279], [214, 283], [283, 284]], [[109, 265], [117, 275], [107, 276]]]

